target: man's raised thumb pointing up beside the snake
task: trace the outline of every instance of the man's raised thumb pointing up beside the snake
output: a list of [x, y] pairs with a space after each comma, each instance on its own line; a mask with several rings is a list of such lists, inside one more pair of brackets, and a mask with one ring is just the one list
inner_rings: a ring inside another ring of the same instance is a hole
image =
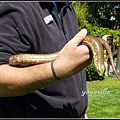
[[78, 32], [72, 39], [72, 42], [74, 42], [74, 44], [79, 45], [80, 42], [85, 38], [85, 36], [87, 35], [87, 30], [85, 28], [83, 28], [80, 32]]

